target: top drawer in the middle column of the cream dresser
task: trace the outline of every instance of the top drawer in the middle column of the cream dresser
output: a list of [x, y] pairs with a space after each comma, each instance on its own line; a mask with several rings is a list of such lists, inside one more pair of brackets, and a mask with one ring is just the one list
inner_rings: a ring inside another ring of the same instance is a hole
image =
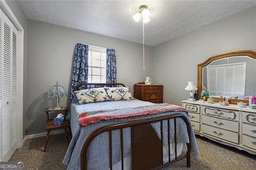
[[202, 115], [210, 115], [213, 117], [223, 118], [232, 121], [239, 120], [238, 111], [219, 109], [214, 107], [202, 107]]

